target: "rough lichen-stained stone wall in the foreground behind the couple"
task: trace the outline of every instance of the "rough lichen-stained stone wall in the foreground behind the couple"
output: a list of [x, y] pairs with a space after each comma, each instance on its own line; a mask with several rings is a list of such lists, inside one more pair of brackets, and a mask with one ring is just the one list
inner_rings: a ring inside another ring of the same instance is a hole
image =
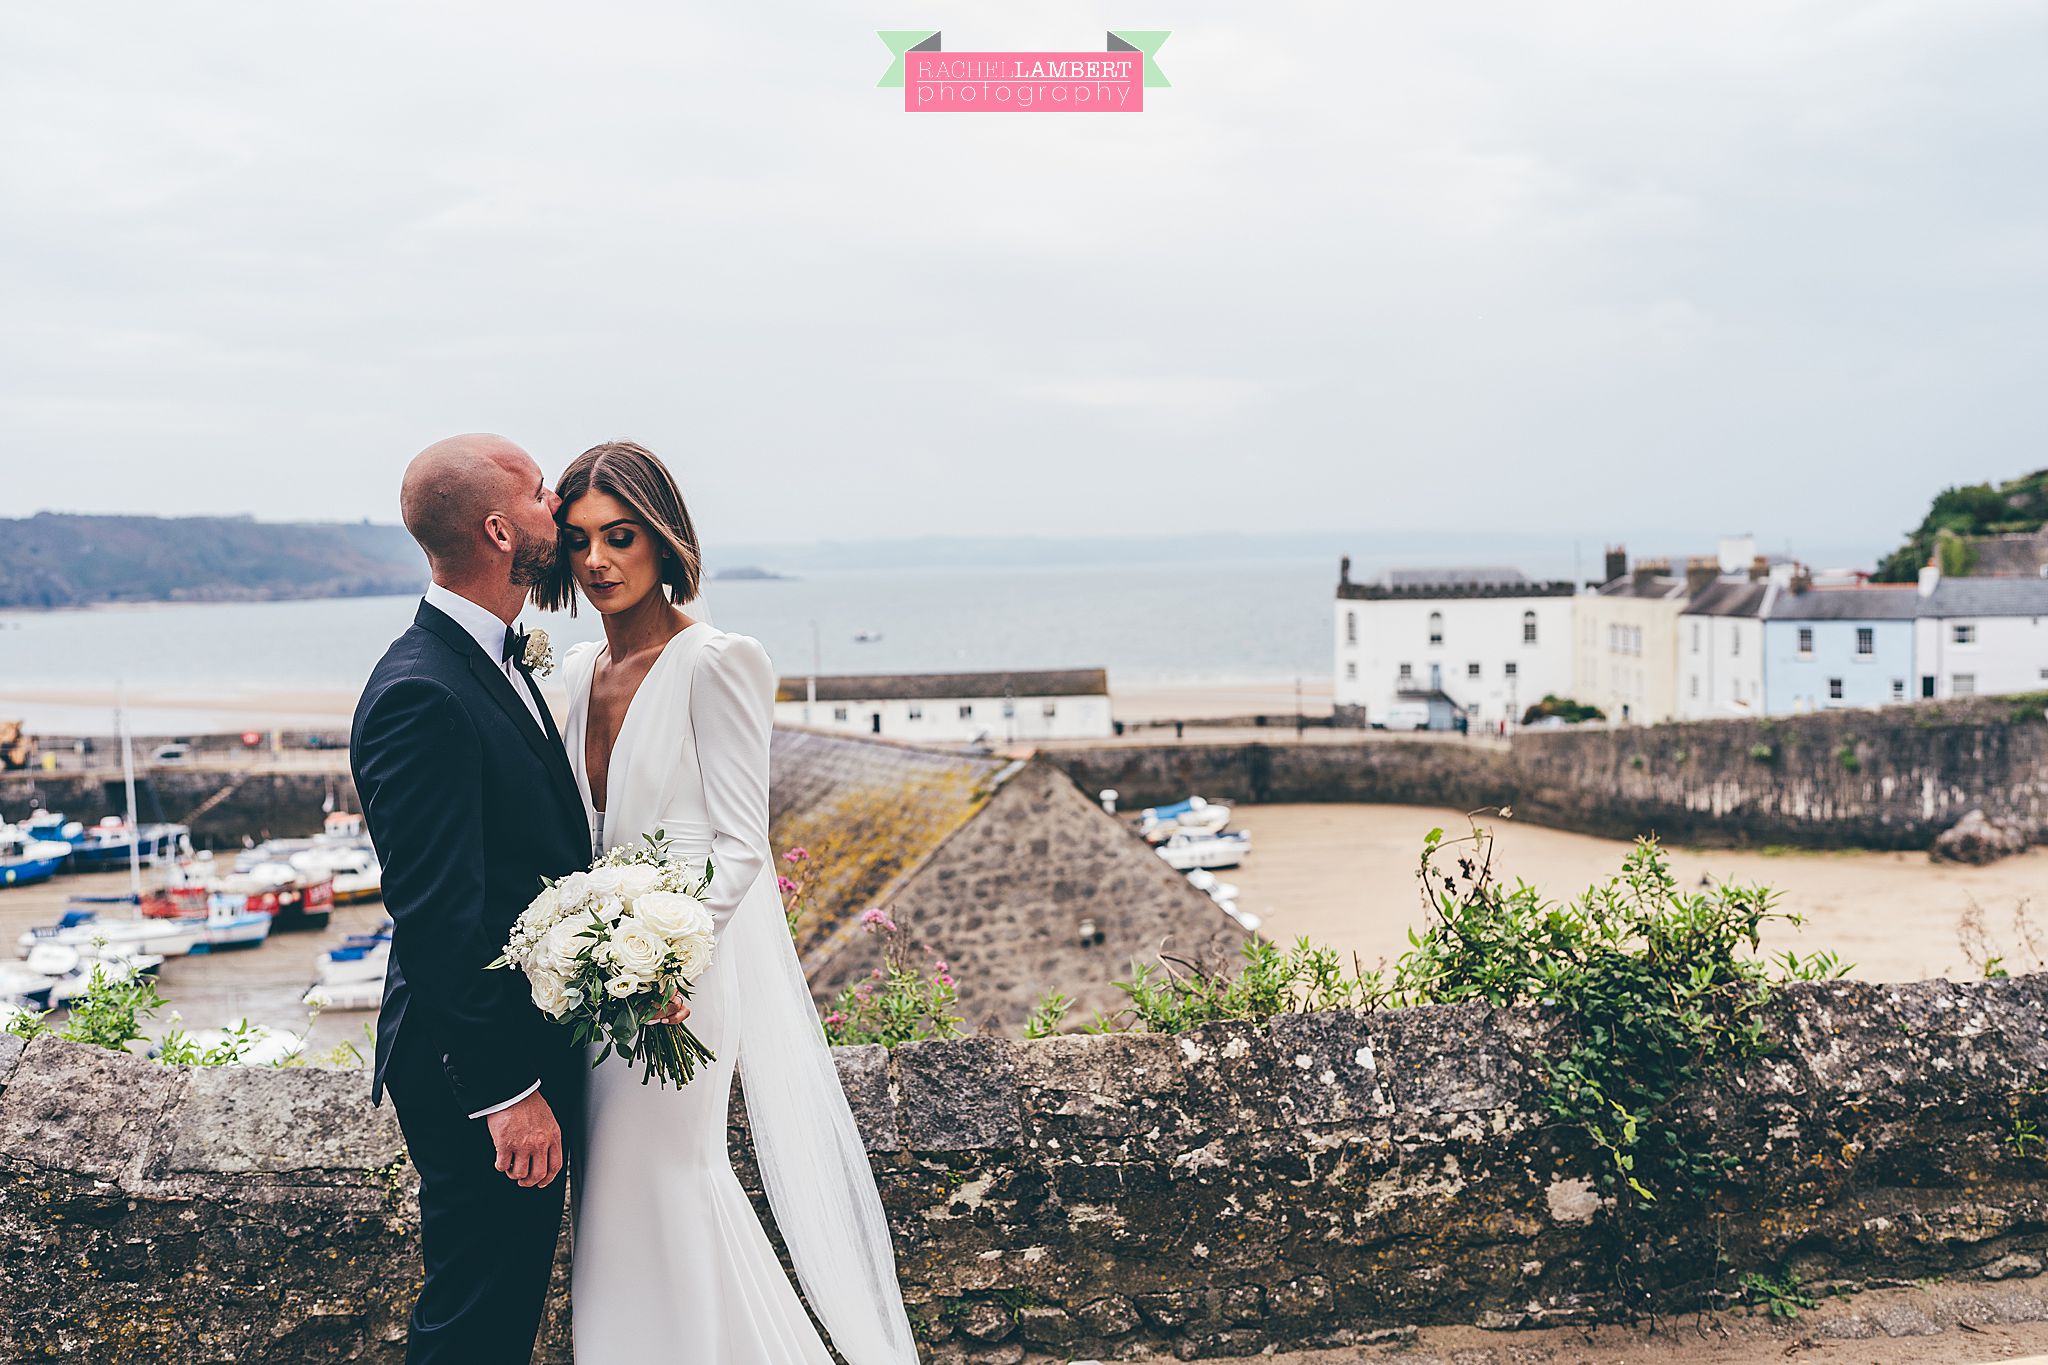
[[[1683, 1105], [1733, 1164], [1645, 1287], [2038, 1275], [2044, 1005], [2048, 978], [1792, 988], [1780, 1052]], [[1593, 1166], [1532, 1095], [1550, 1033], [1436, 1007], [838, 1060], [926, 1359], [1014, 1365], [1614, 1314]], [[0, 1081], [0, 1357], [399, 1359], [412, 1185], [360, 1072], [6, 1040]], [[737, 1113], [733, 1142], [754, 1187]]]

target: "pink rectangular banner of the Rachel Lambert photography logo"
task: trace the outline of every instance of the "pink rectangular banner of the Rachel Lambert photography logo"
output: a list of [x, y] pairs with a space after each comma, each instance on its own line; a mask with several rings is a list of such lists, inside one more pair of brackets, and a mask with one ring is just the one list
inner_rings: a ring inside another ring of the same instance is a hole
[[1145, 111], [1139, 51], [907, 51], [913, 115], [1135, 115]]

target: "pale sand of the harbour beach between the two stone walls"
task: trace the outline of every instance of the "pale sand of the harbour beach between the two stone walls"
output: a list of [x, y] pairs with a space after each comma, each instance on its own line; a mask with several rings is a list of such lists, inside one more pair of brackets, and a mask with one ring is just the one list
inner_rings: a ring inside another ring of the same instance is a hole
[[[1425, 806], [1239, 806], [1235, 829], [1253, 831], [1241, 868], [1221, 872], [1239, 888], [1239, 907], [1264, 919], [1280, 941], [1309, 935], [1372, 966], [1407, 950], [1407, 931], [1423, 921], [1415, 882], [1423, 835], [1466, 831], [1458, 810]], [[1556, 900], [1575, 898], [1620, 872], [1628, 843], [1513, 821], [1491, 821], [1495, 868], [1524, 878]], [[1679, 886], [1702, 878], [1769, 886], [1780, 909], [1804, 927], [1774, 927], [1765, 952], [1835, 952], [1866, 980], [1982, 976], [1960, 943], [1964, 915], [1978, 907], [1991, 952], [2011, 972], [2042, 970], [2048, 952], [2048, 851], [2030, 849], [1989, 868], [1933, 864], [1925, 853], [1761, 853], [1741, 849], [1669, 849]], [[2015, 915], [2030, 902], [2040, 917], [2025, 943]]]

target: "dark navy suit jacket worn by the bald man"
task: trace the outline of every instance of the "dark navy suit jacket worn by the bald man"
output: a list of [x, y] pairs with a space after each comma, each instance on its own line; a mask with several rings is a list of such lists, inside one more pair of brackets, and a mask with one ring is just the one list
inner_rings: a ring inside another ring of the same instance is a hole
[[526, 978], [483, 970], [541, 878], [590, 864], [584, 800], [539, 708], [545, 729], [475, 636], [426, 602], [356, 704], [348, 763], [395, 921], [373, 1099], [401, 1048], [426, 1050], [414, 1056], [440, 1066], [463, 1111], [567, 1066], [569, 1031]]

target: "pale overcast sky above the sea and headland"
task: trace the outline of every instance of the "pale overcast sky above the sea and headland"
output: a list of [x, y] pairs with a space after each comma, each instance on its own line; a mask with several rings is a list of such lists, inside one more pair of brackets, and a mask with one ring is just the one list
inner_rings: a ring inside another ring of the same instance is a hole
[[[874, 29], [1102, 49], [932, 117]], [[727, 540], [1892, 542], [2048, 465], [2048, 6], [10, 4], [0, 512], [395, 520], [627, 436]]]

